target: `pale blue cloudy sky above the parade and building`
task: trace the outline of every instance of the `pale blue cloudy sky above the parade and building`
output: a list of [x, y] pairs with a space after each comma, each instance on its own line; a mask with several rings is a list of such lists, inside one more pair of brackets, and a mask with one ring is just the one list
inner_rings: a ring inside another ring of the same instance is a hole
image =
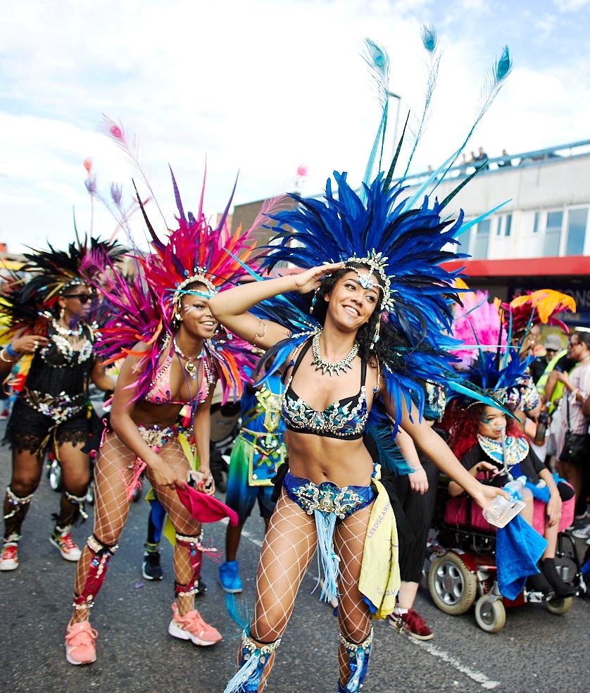
[[[206, 213], [296, 185], [316, 194], [332, 170], [360, 181], [379, 107], [363, 37], [391, 56], [401, 117], [425, 90], [420, 26], [444, 46], [434, 112], [412, 170], [437, 166], [469, 130], [486, 71], [510, 46], [514, 69], [467, 149], [489, 156], [590, 139], [590, 0], [5, 0], [0, 16], [0, 241], [62, 247], [90, 230], [82, 163], [99, 187], [137, 171], [102, 114], [137, 137], [142, 168], [173, 223], [172, 166]], [[391, 112], [396, 112], [396, 102]], [[393, 132], [390, 119], [390, 137]], [[141, 185], [141, 183], [140, 183]], [[163, 221], [150, 211], [160, 228]], [[142, 223], [134, 219], [137, 239]], [[94, 235], [114, 220], [100, 205]]]

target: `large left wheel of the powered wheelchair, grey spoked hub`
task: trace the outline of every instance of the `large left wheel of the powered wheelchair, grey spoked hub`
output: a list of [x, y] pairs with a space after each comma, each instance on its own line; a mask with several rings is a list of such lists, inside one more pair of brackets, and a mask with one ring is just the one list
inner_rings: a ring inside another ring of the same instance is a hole
[[477, 577], [457, 554], [435, 556], [428, 571], [428, 591], [444, 613], [459, 616], [468, 611], [477, 596]]

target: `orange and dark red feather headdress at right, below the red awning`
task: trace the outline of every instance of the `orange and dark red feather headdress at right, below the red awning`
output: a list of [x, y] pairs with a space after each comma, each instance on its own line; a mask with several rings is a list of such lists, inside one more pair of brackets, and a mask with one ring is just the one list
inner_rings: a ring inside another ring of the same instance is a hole
[[557, 316], [565, 311], [575, 313], [576, 302], [572, 296], [553, 289], [539, 289], [515, 296], [509, 304], [502, 304], [502, 308], [512, 320], [515, 335], [528, 332], [532, 325], [556, 325], [569, 335], [569, 328]]

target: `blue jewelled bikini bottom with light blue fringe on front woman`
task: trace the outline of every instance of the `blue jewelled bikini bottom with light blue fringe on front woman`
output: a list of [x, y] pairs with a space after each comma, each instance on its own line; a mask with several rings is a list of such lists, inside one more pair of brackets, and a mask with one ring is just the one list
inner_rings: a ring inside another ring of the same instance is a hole
[[340, 562], [340, 556], [334, 551], [336, 522], [370, 505], [375, 500], [375, 493], [370, 486], [339, 488], [331, 481], [324, 481], [318, 486], [309, 479], [295, 477], [289, 472], [284, 477], [283, 487], [291, 501], [315, 517], [320, 564], [318, 582], [322, 582], [320, 599], [332, 601], [338, 597]]

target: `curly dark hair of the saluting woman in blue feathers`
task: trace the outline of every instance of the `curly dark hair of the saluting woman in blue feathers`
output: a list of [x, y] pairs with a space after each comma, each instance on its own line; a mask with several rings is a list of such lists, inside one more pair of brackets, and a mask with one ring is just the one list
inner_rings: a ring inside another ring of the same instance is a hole
[[[366, 269], [370, 272], [369, 268]], [[325, 322], [328, 309], [327, 301], [324, 300], [325, 296], [331, 294], [337, 282], [350, 271], [350, 267], [345, 267], [341, 270], [332, 272], [331, 275], [328, 275], [325, 280], [322, 281], [320, 288], [316, 292], [310, 292], [303, 296], [308, 308], [311, 307], [315, 296], [313, 317], [318, 320], [318, 323], [321, 325]], [[381, 288], [380, 285], [379, 288]], [[379, 341], [373, 342], [379, 320], [381, 321], [379, 325]], [[403, 335], [403, 333], [398, 330], [394, 330], [389, 321], [383, 318], [383, 314], [379, 311], [378, 304], [375, 306], [375, 311], [373, 311], [369, 318], [369, 322], [358, 328], [356, 341], [358, 342], [358, 355], [363, 361], [370, 364], [370, 366], [377, 365], [375, 359], [379, 359], [379, 363], [384, 363], [387, 359], [394, 369], [403, 369], [406, 366], [403, 356], [396, 352], [396, 347], [401, 347], [402, 349], [408, 348], [410, 342], [406, 338], [406, 335]], [[373, 346], [372, 349], [371, 346]]]

